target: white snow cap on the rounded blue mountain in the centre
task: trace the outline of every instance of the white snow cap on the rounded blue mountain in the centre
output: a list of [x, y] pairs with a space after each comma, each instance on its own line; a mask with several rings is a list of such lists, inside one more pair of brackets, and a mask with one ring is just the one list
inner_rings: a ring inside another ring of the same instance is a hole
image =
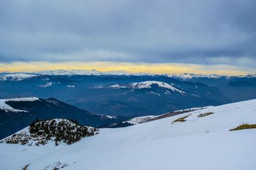
[[179, 89], [173, 87], [172, 85], [170, 85], [168, 83], [164, 83], [161, 81], [142, 81], [140, 83], [131, 83], [131, 86], [134, 87], [135, 89], [144, 89], [144, 88], [150, 89], [151, 85], [158, 85], [159, 87], [170, 89], [173, 92], [186, 93], [186, 92], [183, 92], [182, 90], [179, 90]]

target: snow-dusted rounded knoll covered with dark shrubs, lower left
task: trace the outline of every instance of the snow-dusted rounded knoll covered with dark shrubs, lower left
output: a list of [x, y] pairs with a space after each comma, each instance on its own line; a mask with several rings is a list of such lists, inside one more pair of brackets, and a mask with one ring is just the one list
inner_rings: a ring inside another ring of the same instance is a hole
[[17, 143], [20, 145], [45, 145], [50, 142], [76, 143], [81, 138], [93, 136], [99, 129], [80, 125], [74, 120], [55, 118], [52, 120], [35, 120], [29, 127], [1, 140], [1, 143]]

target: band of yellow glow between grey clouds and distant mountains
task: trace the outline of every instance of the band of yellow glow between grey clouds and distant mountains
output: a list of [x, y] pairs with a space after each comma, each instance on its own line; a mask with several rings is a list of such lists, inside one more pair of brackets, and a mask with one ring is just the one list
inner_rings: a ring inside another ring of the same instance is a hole
[[227, 65], [199, 65], [183, 63], [133, 63], [133, 62], [10, 62], [0, 63], [0, 72], [33, 72], [54, 69], [84, 69], [98, 71], [125, 71], [127, 73], [156, 73], [156, 74], [227, 74], [241, 75], [250, 71], [239, 70]]

